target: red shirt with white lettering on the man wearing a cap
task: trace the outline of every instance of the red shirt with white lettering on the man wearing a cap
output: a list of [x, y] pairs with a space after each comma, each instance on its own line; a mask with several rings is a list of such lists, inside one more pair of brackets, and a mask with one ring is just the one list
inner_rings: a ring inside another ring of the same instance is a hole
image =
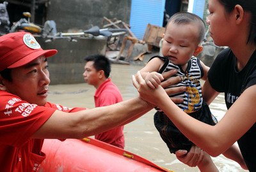
[[1, 171], [36, 171], [45, 159], [41, 152], [43, 139], [31, 136], [51, 117], [55, 110], [66, 112], [84, 108], [66, 108], [46, 103], [38, 106], [0, 91], [0, 167]]

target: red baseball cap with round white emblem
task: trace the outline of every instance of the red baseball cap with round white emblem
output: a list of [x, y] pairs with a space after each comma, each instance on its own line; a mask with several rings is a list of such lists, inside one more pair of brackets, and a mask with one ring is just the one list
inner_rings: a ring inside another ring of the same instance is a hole
[[28, 64], [37, 57], [51, 57], [57, 50], [43, 50], [29, 32], [13, 32], [0, 36], [0, 71]]

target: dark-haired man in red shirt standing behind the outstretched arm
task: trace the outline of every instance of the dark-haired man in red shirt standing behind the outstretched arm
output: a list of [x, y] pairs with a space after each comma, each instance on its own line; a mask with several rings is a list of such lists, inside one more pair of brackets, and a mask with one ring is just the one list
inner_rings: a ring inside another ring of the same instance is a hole
[[[103, 55], [90, 55], [85, 58], [84, 81], [96, 89], [95, 107], [108, 106], [123, 101], [120, 90], [111, 82], [111, 66]], [[119, 148], [124, 148], [124, 126], [119, 126], [104, 133], [96, 134], [95, 139], [104, 141]]]

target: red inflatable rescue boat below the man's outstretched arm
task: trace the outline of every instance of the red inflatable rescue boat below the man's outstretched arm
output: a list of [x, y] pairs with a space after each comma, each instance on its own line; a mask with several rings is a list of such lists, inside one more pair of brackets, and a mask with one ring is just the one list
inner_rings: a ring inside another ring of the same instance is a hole
[[93, 138], [45, 140], [46, 159], [38, 171], [169, 171], [153, 162]]

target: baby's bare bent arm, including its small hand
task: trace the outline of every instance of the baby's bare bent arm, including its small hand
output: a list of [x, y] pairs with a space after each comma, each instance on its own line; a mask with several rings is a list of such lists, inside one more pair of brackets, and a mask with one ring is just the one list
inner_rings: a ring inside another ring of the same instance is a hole
[[145, 79], [148, 87], [155, 89], [161, 84], [164, 78], [160, 73], [157, 73], [157, 71], [159, 71], [163, 64], [164, 62], [161, 59], [155, 57], [140, 70], [141, 76]]

